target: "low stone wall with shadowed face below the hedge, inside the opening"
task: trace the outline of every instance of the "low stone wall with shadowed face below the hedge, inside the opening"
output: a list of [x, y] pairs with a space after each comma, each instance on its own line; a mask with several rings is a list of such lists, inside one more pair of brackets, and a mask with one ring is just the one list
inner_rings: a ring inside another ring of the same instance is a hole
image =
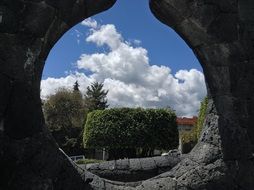
[[168, 156], [124, 159], [79, 166], [105, 179], [137, 182], [169, 171], [183, 158], [184, 155], [169, 154]]

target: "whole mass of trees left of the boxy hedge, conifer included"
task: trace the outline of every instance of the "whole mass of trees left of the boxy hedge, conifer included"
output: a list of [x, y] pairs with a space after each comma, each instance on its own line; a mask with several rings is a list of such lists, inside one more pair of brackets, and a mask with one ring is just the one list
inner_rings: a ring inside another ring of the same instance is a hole
[[59, 89], [43, 103], [46, 125], [58, 145], [69, 155], [83, 154], [82, 136], [88, 111], [108, 107], [103, 84], [95, 82], [87, 88], [85, 99], [76, 81], [73, 89]]

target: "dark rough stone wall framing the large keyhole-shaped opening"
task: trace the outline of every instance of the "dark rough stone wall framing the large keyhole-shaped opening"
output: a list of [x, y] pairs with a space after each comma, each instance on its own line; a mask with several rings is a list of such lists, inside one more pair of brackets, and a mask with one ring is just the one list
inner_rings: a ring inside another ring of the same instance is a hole
[[[84, 172], [44, 127], [40, 79], [57, 39], [116, 0], [0, 2], [1, 189], [254, 189], [254, 3], [150, 0], [154, 15], [193, 49], [204, 69], [209, 109], [199, 143], [171, 171], [140, 184]], [[89, 180], [88, 180], [89, 179]], [[89, 182], [90, 185], [88, 184]]]

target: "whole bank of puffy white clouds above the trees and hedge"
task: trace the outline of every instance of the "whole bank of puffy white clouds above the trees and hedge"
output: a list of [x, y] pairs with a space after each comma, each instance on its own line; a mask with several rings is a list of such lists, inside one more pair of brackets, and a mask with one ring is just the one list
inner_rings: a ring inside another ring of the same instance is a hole
[[[90, 21], [89, 21], [90, 22]], [[152, 65], [148, 51], [124, 41], [112, 24], [91, 28], [86, 41], [97, 46], [107, 46], [106, 53], [82, 54], [77, 69], [90, 71], [86, 76], [75, 73], [63, 78], [42, 81], [42, 97], [60, 86], [72, 87], [76, 80], [83, 91], [92, 81], [104, 82], [109, 89], [111, 107], [167, 107], [180, 116], [197, 114], [200, 101], [206, 95], [203, 74], [196, 70], [180, 70], [175, 75], [166, 66]], [[134, 42], [141, 44], [141, 42]]]

